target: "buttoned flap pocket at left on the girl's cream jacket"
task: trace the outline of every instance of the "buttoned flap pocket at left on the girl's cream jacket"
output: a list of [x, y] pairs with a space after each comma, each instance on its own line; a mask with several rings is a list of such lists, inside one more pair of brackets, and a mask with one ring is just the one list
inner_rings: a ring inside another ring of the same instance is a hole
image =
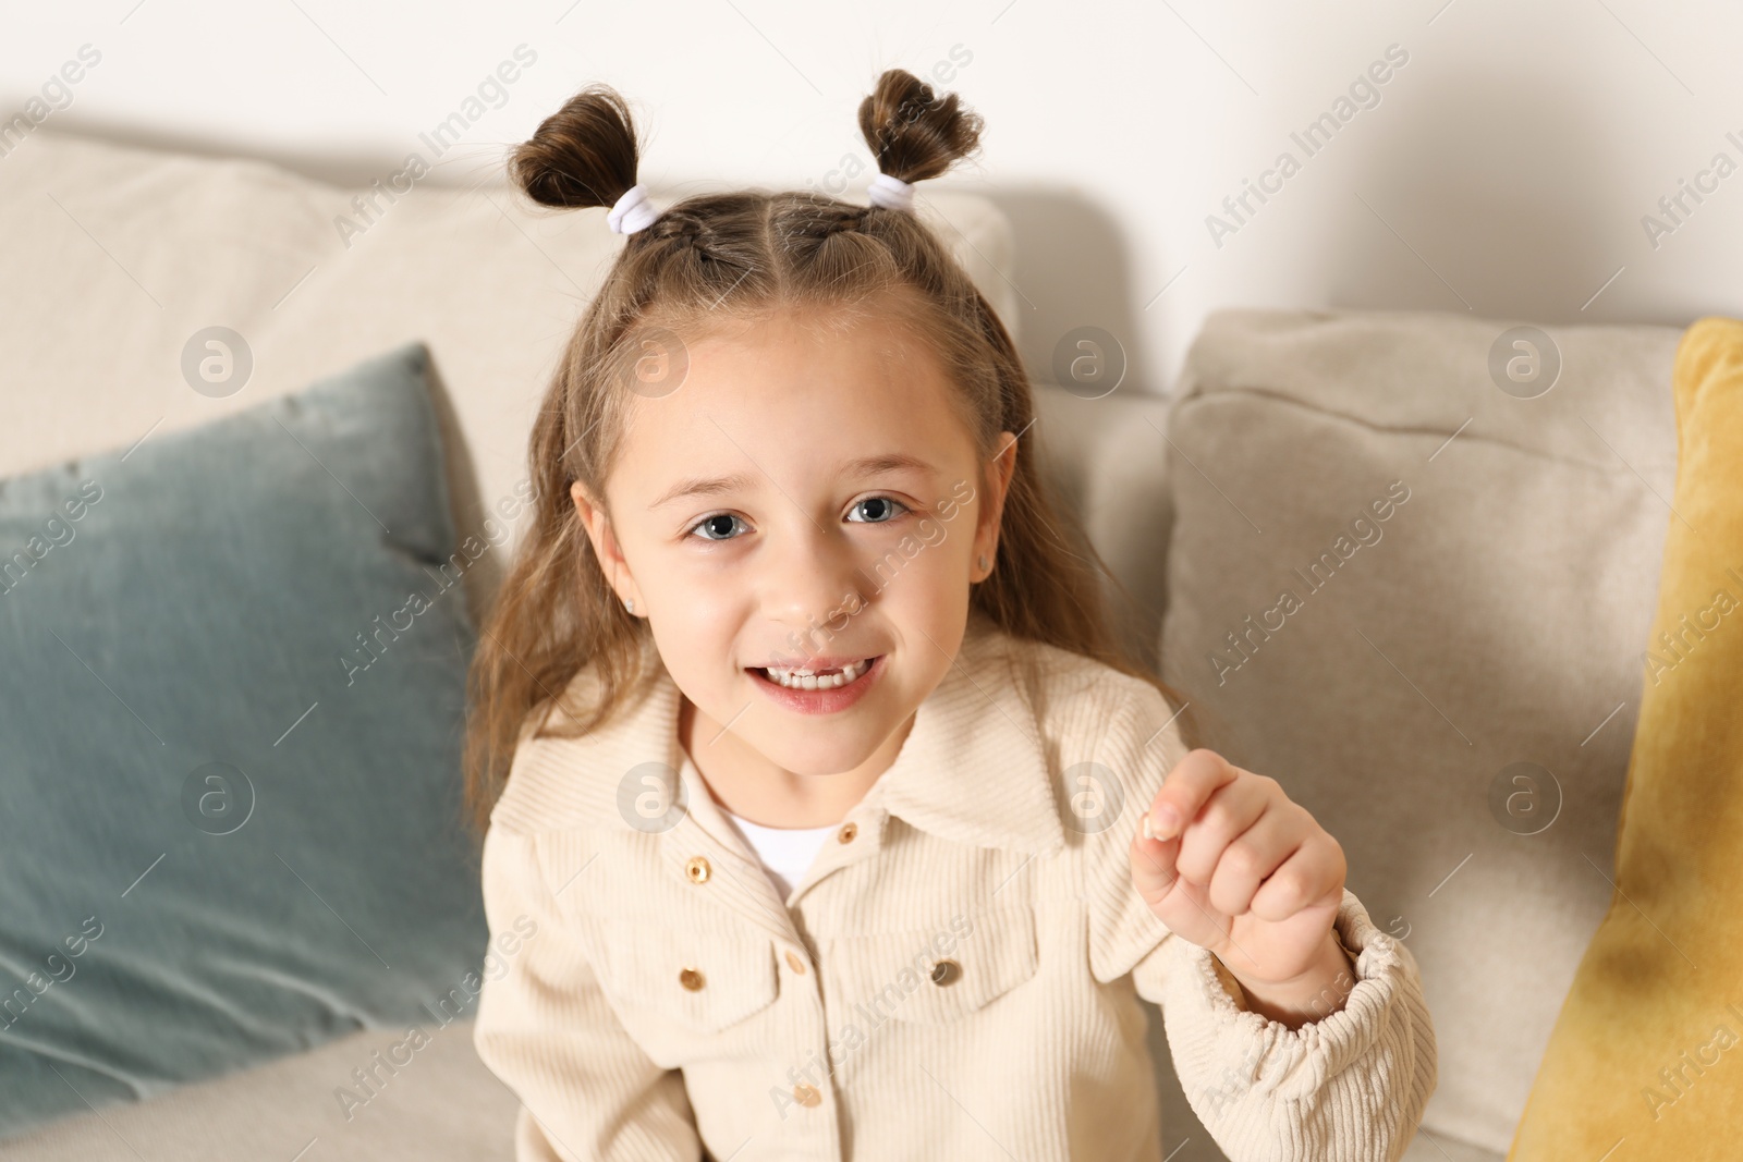
[[774, 941], [682, 930], [659, 918], [598, 922], [600, 986], [633, 1033], [720, 1033], [774, 1003]]

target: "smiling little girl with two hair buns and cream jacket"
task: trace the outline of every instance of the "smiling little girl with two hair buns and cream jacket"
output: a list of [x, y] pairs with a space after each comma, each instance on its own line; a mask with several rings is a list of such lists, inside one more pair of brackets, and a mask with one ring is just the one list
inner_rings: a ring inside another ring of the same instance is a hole
[[870, 207], [655, 211], [605, 87], [511, 160], [627, 235], [472, 672], [518, 1157], [1156, 1160], [1142, 996], [1236, 1162], [1398, 1159], [1415, 960], [1110, 645], [1011, 338], [912, 209], [980, 118], [892, 70], [859, 129]]

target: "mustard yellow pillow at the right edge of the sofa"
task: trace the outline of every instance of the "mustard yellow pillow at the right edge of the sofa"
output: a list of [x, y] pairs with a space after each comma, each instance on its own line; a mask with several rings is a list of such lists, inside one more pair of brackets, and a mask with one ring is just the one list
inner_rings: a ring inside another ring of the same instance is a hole
[[1508, 1162], [1743, 1157], [1743, 322], [1691, 326], [1672, 390], [1677, 491], [1616, 892]]

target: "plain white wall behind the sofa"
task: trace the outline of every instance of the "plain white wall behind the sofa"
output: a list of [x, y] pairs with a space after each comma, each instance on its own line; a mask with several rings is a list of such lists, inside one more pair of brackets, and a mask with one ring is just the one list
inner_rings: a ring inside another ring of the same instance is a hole
[[[397, 171], [521, 44], [537, 61], [431, 181], [492, 176], [573, 89], [607, 80], [652, 131], [648, 181], [821, 185], [844, 157], [870, 166], [854, 108], [877, 71], [943, 63], [988, 124], [980, 164], [946, 181], [1016, 223], [1041, 378], [1058, 338], [1095, 324], [1126, 345], [1128, 387], [1166, 390], [1222, 305], [1743, 314], [1743, 172], [1706, 178], [1717, 190], [1685, 197], [1656, 246], [1642, 225], [1715, 153], [1743, 166], [1743, 9], [1717, 0], [9, 0], [3, 28], [0, 117], [89, 44], [101, 59], [56, 94], [54, 125], [361, 183]], [[1309, 157], [1292, 131], [1389, 45], [1408, 61], [1379, 103]], [[1218, 246], [1206, 216], [1285, 150], [1300, 171], [1250, 197], [1245, 223], [1224, 214], [1236, 230]]]

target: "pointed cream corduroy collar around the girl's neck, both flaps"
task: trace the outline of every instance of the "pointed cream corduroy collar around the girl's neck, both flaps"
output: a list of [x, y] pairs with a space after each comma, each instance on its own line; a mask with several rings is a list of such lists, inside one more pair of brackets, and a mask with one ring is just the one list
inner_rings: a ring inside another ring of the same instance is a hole
[[[1053, 777], [1023, 681], [1025, 645], [983, 613], [971, 613], [957, 657], [915, 711], [896, 761], [861, 807], [973, 847], [1030, 854], [1061, 847]], [[633, 709], [565, 740], [570, 770], [626, 772], [647, 761], [683, 767], [680, 692], [657, 659], [654, 667], [647, 695]]]

